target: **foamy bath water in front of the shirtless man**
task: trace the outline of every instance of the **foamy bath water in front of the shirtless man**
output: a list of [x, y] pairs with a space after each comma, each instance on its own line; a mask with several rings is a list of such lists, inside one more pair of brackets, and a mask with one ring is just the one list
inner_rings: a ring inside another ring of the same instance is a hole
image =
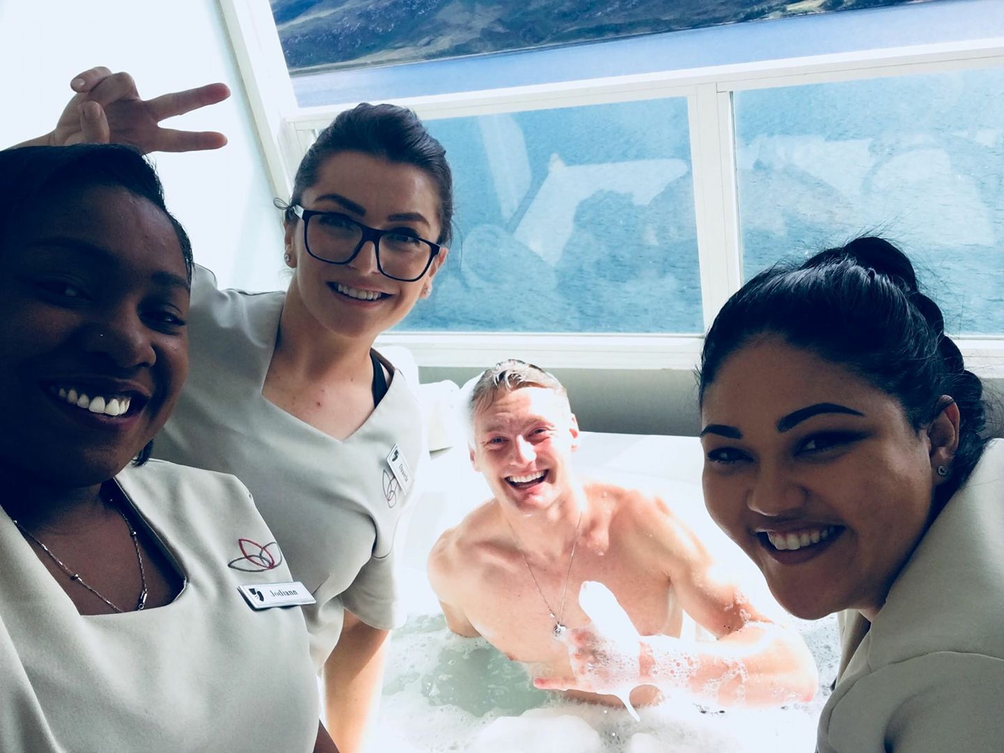
[[[380, 718], [367, 751], [812, 750], [816, 719], [836, 674], [836, 624], [834, 618], [793, 621], [819, 665], [820, 690], [810, 704], [792, 704], [787, 709], [737, 706], [722, 714], [717, 708], [698, 706], [686, 694], [667, 694], [659, 706], [639, 709], [640, 721], [636, 722], [621, 708], [569, 701], [556, 693], [538, 691], [521, 665], [510, 662], [486, 641], [455, 636], [447, 630], [442, 614], [416, 614], [392, 636]], [[553, 721], [556, 719], [563, 721]], [[507, 731], [516, 735], [516, 747], [507, 747], [501, 738], [481, 737], [496, 722], [500, 724], [492, 734]], [[569, 740], [575, 745], [569, 746]]]

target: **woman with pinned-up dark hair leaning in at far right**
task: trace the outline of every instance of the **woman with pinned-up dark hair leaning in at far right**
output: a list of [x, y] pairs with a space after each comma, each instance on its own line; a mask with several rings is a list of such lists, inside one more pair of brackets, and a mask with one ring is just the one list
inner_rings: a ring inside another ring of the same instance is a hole
[[859, 238], [756, 275], [700, 398], [712, 517], [789, 611], [842, 612], [818, 750], [1000, 750], [1004, 445], [910, 260]]

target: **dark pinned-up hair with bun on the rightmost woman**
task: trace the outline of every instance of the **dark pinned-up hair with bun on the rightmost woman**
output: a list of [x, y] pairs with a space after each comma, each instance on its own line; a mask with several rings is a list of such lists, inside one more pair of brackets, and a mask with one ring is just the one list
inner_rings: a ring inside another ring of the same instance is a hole
[[920, 292], [910, 259], [882, 238], [858, 238], [803, 263], [760, 272], [722, 307], [701, 354], [700, 400], [725, 360], [761, 337], [837, 363], [895, 398], [915, 430], [959, 407], [959, 447], [935, 509], [965, 483], [987, 439], [983, 386], [945, 334], [941, 309]]

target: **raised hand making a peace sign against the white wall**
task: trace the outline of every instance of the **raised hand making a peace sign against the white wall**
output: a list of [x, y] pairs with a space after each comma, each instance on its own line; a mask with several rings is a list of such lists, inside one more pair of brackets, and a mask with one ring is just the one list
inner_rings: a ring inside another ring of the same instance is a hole
[[129, 73], [90, 68], [70, 82], [76, 94], [66, 104], [56, 128], [26, 144], [64, 147], [71, 144], [130, 144], [144, 153], [196, 152], [227, 143], [212, 131], [176, 131], [160, 122], [174, 115], [216, 104], [230, 96], [224, 83], [143, 99]]

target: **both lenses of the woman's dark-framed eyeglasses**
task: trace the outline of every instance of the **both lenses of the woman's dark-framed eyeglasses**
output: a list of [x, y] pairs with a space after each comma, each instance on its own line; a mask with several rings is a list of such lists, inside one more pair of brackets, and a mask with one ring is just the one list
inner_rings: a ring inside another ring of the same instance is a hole
[[[362, 228], [337, 215], [314, 215], [307, 223], [310, 253], [327, 261], [344, 263], [358, 248]], [[403, 233], [386, 233], [380, 239], [380, 265], [391, 277], [414, 279], [426, 271], [432, 258], [428, 243]]]

